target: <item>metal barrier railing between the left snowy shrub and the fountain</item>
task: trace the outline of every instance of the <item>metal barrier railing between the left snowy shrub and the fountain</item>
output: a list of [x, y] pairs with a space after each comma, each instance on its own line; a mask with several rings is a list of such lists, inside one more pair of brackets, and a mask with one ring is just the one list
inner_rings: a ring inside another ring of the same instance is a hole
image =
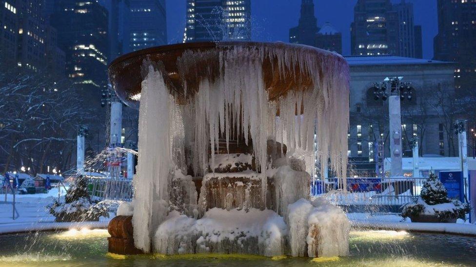
[[91, 178], [90, 194], [94, 200], [132, 201], [134, 189], [132, 179], [127, 178]]

